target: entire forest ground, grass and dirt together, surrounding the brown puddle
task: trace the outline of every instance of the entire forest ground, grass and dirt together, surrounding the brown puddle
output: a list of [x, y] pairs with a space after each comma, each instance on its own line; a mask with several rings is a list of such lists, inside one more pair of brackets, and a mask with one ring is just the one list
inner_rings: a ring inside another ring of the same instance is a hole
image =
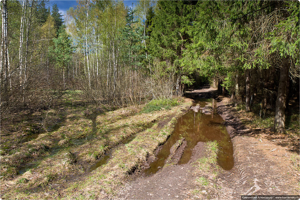
[[[299, 194], [299, 136], [256, 128], [213, 88], [157, 111], [145, 105], [92, 106], [70, 94], [44, 112], [24, 111], [1, 121], [1, 199], [240, 199], [244, 194]], [[233, 144], [234, 167], [216, 162], [213, 142], [199, 142], [186, 164], [176, 142], [169, 164], [153, 175], [156, 160], [189, 98], [218, 100], [217, 112]], [[55, 124], [59, 124], [54, 126]], [[45, 127], [46, 131], [41, 131]]]

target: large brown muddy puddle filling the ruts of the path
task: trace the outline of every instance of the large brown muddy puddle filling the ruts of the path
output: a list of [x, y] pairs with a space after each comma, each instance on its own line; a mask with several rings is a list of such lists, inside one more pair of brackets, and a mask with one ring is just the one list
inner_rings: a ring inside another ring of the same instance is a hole
[[150, 163], [150, 168], [145, 169], [142, 174], [151, 175], [161, 169], [166, 159], [170, 155], [170, 148], [177, 140], [185, 138], [187, 147], [185, 148], [178, 164], [185, 164], [190, 161], [193, 148], [198, 142], [208, 142], [216, 140], [219, 143], [220, 151], [218, 152], [217, 163], [225, 170], [233, 167], [233, 147], [223, 119], [216, 112], [216, 100], [200, 99], [195, 101], [193, 106], [204, 107], [211, 103], [213, 111], [209, 115], [202, 113], [202, 109], [198, 112], [189, 110], [185, 115], [180, 117], [175, 126], [175, 130], [169, 137], [167, 142], [157, 154], [157, 160]]

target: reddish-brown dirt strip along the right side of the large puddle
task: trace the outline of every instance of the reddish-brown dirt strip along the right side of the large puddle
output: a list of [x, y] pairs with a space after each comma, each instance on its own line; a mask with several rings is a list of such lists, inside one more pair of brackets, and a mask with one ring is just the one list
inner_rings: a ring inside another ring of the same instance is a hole
[[292, 153], [299, 154], [299, 141], [269, 129], [250, 129], [240, 121], [243, 113], [227, 102], [223, 98], [217, 106], [232, 138], [235, 167], [220, 175], [224, 191], [240, 195], [299, 195], [300, 174], [290, 159]]

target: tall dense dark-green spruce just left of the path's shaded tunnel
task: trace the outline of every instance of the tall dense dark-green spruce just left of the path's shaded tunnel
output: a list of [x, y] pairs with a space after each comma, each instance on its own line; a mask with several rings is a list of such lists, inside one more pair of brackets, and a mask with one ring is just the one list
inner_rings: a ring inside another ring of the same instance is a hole
[[155, 14], [151, 8], [147, 13], [146, 31], [149, 36], [147, 50], [152, 57], [172, 66], [172, 73], [184, 84], [191, 85], [194, 66], [181, 65], [182, 53], [190, 43], [186, 27], [193, 23], [196, 1], [158, 1]]

